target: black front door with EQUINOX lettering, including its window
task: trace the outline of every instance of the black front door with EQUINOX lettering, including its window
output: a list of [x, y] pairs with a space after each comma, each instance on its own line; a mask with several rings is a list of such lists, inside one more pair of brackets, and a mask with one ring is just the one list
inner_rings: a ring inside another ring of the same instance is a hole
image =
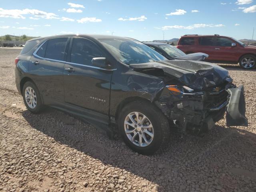
[[112, 70], [92, 66], [92, 58], [106, 57], [86, 38], [72, 38], [64, 66], [65, 102], [108, 115]]

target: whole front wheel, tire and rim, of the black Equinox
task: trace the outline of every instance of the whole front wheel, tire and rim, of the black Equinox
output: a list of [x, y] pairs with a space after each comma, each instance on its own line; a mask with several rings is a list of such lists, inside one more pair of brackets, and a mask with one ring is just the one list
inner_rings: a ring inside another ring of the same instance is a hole
[[[136, 112], [138, 112], [140, 120], [145, 116], [141, 122], [143, 125], [140, 125], [138, 121], [136, 122]], [[130, 117], [128, 117], [129, 114]], [[136, 128], [134, 127], [136, 124], [134, 126], [127, 124], [128, 120], [128, 123], [132, 122], [131, 118], [134, 118], [134, 122], [137, 123]], [[146, 126], [152, 126], [152, 128], [146, 128]], [[166, 116], [156, 106], [145, 101], [131, 102], [122, 108], [118, 117], [118, 129], [122, 139], [129, 148], [145, 155], [153, 154], [158, 149], [164, 148], [170, 135], [169, 122]], [[126, 134], [126, 131], [132, 130], [134, 130], [133, 133]], [[131, 140], [135, 134], [137, 135], [132, 142]], [[140, 137], [143, 138], [141, 139], [141, 144], [139, 143]], [[144, 138], [146, 138], [148, 143], [146, 143]]]

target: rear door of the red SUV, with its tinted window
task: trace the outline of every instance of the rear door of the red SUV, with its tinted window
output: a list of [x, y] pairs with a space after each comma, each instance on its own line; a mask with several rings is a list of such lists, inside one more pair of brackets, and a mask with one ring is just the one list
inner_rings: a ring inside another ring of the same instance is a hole
[[197, 52], [208, 54], [209, 57], [206, 58], [207, 60], [216, 60], [216, 58], [218, 58], [218, 55], [216, 55], [215, 52], [215, 41], [216, 37], [214, 36], [198, 38]]

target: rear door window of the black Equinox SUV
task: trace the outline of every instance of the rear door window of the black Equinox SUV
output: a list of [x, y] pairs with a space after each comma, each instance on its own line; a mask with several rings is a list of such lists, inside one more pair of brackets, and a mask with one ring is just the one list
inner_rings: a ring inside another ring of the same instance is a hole
[[48, 40], [44, 57], [64, 61], [67, 40], [67, 37]]

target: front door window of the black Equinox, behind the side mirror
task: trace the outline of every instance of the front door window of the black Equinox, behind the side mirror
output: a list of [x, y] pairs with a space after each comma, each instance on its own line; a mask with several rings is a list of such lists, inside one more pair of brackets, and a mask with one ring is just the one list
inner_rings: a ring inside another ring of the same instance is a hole
[[84, 38], [73, 38], [70, 62], [92, 66], [92, 58], [104, 57], [98, 46]]

